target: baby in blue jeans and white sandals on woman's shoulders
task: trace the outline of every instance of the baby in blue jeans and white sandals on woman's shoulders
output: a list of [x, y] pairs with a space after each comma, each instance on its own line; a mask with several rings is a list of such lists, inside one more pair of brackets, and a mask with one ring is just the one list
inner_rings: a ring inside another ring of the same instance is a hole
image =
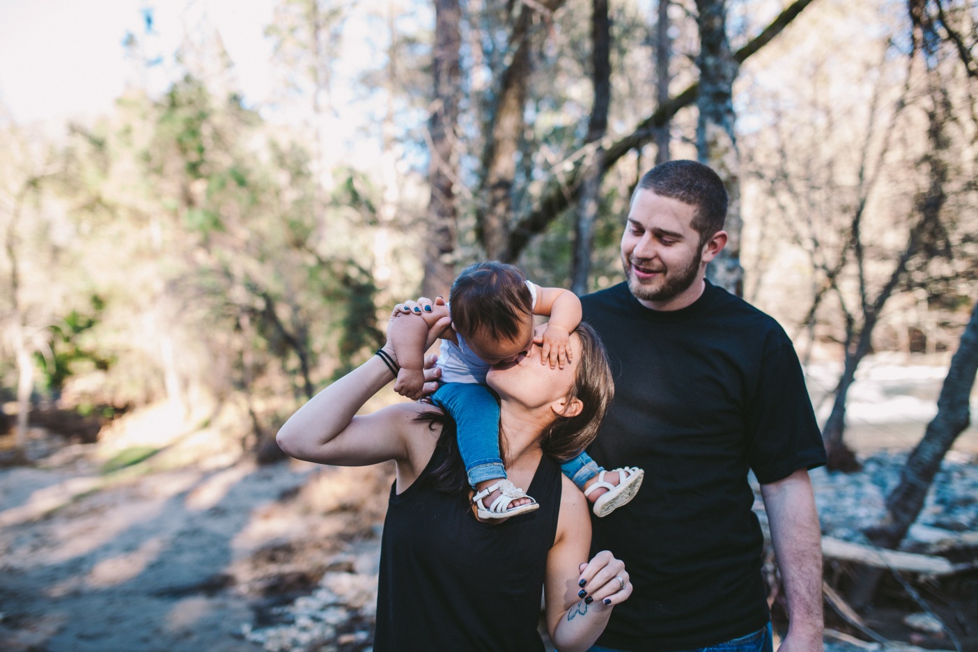
[[[398, 311], [416, 314], [425, 326], [404, 333], [394, 347], [400, 371], [394, 390], [412, 399], [422, 397], [423, 348], [427, 327], [451, 316], [440, 336], [438, 367], [441, 384], [432, 401], [450, 413], [458, 426], [459, 453], [466, 464], [472, 502], [482, 520], [503, 520], [539, 505], [507, 480], [499, 450], [499, 404], [485, 385], [493, 365], [516, 360], [534, 344], [534, 315], [550, 317], [538, 336], [541, 363], [563, 369], [572, 360], [570, 332], [581, 321], [577, 296], [558, 287], [530, 283], [518, 268], [496, 261], [469, 265], [452, 283], [449, 304], [399, 304]], [[635, 496], [645, 471], [637, 467], [605, 471], [583, 451], [564, 461], [561, 470], [605, 516]], [[485, 501], [488, 500], [489, 506]]]

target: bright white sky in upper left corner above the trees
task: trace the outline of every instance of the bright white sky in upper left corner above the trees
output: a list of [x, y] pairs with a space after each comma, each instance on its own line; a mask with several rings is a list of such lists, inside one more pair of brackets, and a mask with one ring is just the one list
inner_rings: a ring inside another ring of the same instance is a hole
[[[183, 23], [201, 13], [220, 32], [246, 100], [261, 102], [273, 83], [264, 29], [274, 6], [275, 0], [0, 0], [0, 103], [18, 122], [110, 109], [137, 70], [125, 56], [127, 32], [162, 57], [149, 81], [165, 87]], [[154, 16], [149, 37], [145, 9]]]

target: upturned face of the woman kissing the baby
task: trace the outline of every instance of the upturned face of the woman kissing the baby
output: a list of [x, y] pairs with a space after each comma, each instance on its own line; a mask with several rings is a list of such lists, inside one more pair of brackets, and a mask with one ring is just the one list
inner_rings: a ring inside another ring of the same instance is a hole
[[533, 344], [526, 355], [520, 354], [513, 362], [490, 368], [486, 384], [496, 390], [500, 399], [515, 401], [528, 408], [558, 401], [574, 386], [581, 351], [581, 339], [575, 333], [570, 335], [570, 349], [576, 354], [573, 360], [563, 369], [551, 369], [550, 364], [541, 364], [541, 346]]

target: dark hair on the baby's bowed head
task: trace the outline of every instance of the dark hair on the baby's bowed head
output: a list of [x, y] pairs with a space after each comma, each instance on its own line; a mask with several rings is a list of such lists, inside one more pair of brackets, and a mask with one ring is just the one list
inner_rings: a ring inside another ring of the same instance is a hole
[[513, 340], [533, 314], [533, 297], [526, 277], [515, 265], [490, 260], [472, 263], [452, 283], [448, 295], [452, 324], [464, 337], [485, 333], [493, 339]]

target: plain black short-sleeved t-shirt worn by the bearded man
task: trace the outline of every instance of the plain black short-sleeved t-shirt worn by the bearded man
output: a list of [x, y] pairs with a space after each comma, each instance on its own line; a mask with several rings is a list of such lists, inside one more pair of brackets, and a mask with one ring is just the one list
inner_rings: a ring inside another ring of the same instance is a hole
[[685, 650], [760, 629], [770, 615], [748, 469], [770, 483], [825, 461], [790, 339], [709, 282], [676, 311], [645, 308], [626, 283], [581, 301], [615, 375], [588, 452], [645, 469], [634, 500], [593, 519], [593, 550], [622, 559], [635, 587], [599, 644]]

